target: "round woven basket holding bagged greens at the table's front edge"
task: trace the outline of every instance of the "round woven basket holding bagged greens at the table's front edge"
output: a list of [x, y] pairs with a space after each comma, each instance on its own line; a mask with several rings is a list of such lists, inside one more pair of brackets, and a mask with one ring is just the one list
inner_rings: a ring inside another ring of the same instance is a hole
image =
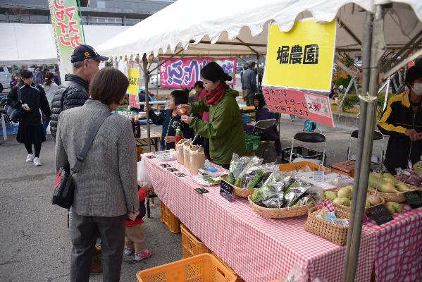
[[284, 207], [282, 209], [273, 209], [268, 207], [261, 207], [258, 204], [255, 204], [251, 197], [248, 197], [249, 204], [252, 209], [259, 214], [260, 216], [266, 217], [268, 219], [287, 219], [289, 217], [304, 216], [311, 207], [314, 207], [315, 204], [306, 204], [302, 207]]

